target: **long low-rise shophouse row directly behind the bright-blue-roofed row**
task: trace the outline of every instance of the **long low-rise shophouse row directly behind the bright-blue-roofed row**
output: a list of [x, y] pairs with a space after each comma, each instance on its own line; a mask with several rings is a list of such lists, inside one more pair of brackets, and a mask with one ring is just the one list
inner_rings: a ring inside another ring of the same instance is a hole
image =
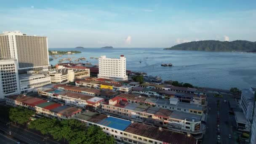
[[126, 99], [115, 97], [102, 105], [102, 112], [148, 123], [173, 131], [194, 134], [198, 139], [203, 137], [205, 126], [201, 124], [202, 115], [152, 107], [146, 104], [129, 103]]

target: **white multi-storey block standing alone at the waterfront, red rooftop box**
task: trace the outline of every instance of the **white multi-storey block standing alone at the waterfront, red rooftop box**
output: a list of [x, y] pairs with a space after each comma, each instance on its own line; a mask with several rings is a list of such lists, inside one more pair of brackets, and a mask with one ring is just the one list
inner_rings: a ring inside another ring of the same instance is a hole
[[126, 75], [126, 58], [124, 55], [120, 59], [111, 59], [106, 56], [99, 58], [99, 78], [109, 78], [115, 80], [128, 80]]

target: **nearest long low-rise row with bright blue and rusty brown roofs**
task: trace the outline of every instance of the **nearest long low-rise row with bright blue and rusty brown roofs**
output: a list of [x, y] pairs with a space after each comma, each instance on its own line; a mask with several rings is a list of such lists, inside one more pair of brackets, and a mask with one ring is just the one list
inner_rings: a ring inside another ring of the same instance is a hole
[[107, 136], [116, 139], [117, 144], [197, 144], [197, 140], [192, 135], [99, 113], [86, 111], [77, 115], [75, 119], [101, 127]]

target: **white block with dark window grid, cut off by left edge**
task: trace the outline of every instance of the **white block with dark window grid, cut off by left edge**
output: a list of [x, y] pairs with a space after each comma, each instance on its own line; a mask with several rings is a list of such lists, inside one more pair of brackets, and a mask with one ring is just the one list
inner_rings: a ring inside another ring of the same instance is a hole
[[0, 59], [0, 100], [19, 94], [18, 63], [16, 59]]

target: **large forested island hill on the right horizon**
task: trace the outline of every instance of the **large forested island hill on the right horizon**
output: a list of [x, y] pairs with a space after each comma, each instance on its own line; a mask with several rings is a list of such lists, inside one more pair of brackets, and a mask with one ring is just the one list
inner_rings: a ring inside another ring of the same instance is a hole
[[255, 52], [256, 42], [247, 40], [219, 41], [219, 40], [202, 40], [189, 43], [181, 43], [164, 50], [184, 50], [184, 51], [240, 51]]

